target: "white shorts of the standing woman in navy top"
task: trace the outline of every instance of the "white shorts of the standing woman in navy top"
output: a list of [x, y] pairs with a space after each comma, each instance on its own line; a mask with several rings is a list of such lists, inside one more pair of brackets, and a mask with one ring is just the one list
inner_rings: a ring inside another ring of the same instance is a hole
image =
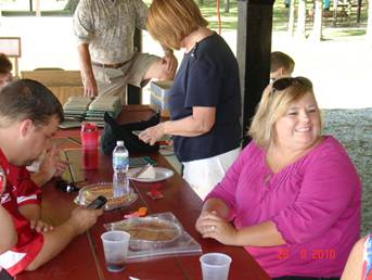
[[211, 189], [222, 180], [240, 151], [241, 148], [236, 148], [214, 157], [182, 163], [183, 179], [204, 200]]

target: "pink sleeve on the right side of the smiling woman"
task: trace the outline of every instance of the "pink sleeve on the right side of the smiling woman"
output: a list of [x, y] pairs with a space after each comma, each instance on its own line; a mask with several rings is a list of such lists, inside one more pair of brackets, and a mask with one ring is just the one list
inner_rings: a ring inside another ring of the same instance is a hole
[[306, 164], [295, 203], [272, 218], [287, 243], [322, 236], [346, 216], [348, 207], [355, 209], [360, 204], [359, 177], [341, 145], [328, 144]]

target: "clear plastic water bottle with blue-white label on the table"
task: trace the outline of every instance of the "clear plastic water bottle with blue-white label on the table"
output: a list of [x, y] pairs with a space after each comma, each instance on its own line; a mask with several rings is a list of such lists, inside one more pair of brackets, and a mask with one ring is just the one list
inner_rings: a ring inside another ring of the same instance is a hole
[[124, 141], [117, 141], [113, 151], [113, 188], [114, 196], [123, 196], [130, 192], [127, 171], [129, 168], [129, 153]]

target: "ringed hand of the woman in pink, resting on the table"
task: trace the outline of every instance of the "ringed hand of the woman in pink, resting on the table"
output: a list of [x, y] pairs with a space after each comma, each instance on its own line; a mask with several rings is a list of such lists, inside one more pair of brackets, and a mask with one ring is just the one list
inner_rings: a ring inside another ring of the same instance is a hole
[[196, 230], [203, 238], [213, 238], [222, 244], [234, 245], [236, 229], [216, 212], [202, 212], [196, 220]]

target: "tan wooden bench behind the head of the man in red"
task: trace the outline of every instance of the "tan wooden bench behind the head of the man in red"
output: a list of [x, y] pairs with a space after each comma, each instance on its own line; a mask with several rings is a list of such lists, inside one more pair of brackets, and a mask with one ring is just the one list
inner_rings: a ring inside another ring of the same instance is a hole
[[53, 68], [22, 71], [21, 77], [40, 81], [54, 93], [62, 104], [66, 103], [69, 97], [84, 94], [84, 86], [79, 71]]

